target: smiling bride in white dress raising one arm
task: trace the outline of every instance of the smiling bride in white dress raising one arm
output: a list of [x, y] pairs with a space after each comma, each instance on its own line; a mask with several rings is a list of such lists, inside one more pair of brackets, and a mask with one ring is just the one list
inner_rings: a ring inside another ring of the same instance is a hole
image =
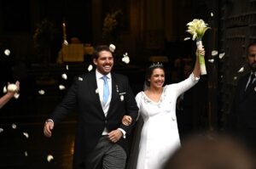
[[[148, 67], [145, 78], [148, 89], [137, 93], [136, 96], [139, 113], [143, 119], [137, 169], [162, 168], [168, 157], [180, 147], [176, 101], [180, 94], [189, 90], [199, 81], [199, 53], [205, 55], [204, 49], [196, 51], [194, 70], [183, 82], [164, 86], [165, 70], [163, 65], [158, 63]], [[129, 125], [131, 120], [130, 116], [125, 115], [123, 123]], [[135, 139], [137, 140], [137, 138]], [[128, 163], [131, 162], [134, 161], [128, 161]]]

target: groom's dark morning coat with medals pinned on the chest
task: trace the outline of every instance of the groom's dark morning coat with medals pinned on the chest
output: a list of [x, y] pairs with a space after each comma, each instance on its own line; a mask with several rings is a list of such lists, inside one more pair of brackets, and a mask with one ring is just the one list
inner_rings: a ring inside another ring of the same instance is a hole
[[[108, 131], [123, 128], [128, 134], [133, 124], [124, 126], [121, 121], [124, 115], [131, 115], [137, 119], [137, 103], [126, 76], [111, 73], [112, 76], [112, 99], [109, 105], [108, 115], [105, 117], [101, 101], [97, 92], [96, 72], [75, 78], [67, 95], [59, 104], [50, 118], [58, 122], [73, 108], [78, 108], [78, 132], [76, 136], [73, 168], [84, 168], [82, 161], [86, 155], [96, 146], [102, 136], [104, 127]], [[121, 138], [118, 142], [125, 150], [127, 138]]]

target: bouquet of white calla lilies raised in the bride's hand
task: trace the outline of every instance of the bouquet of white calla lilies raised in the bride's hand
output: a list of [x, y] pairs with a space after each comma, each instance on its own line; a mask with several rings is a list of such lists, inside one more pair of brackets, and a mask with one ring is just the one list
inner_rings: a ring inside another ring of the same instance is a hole
[[[204, 36], [205, 32], [211, 28], [208, 27], [208, 25], [204, 22], [204, 20], [197, 20], [197, 19], [189, 22], [187, 25], [188, 25], [187, 32], [189, 32], [192, 35], [192, 40], [196, 41], [197, 48], [201, 50], [202, 37]], [[202, 56], [201, 54], [199, 54], [199, 63], [200, 63], [201, 75], [207, 75], [205, 59], [204, 59], [204, 56]]]

